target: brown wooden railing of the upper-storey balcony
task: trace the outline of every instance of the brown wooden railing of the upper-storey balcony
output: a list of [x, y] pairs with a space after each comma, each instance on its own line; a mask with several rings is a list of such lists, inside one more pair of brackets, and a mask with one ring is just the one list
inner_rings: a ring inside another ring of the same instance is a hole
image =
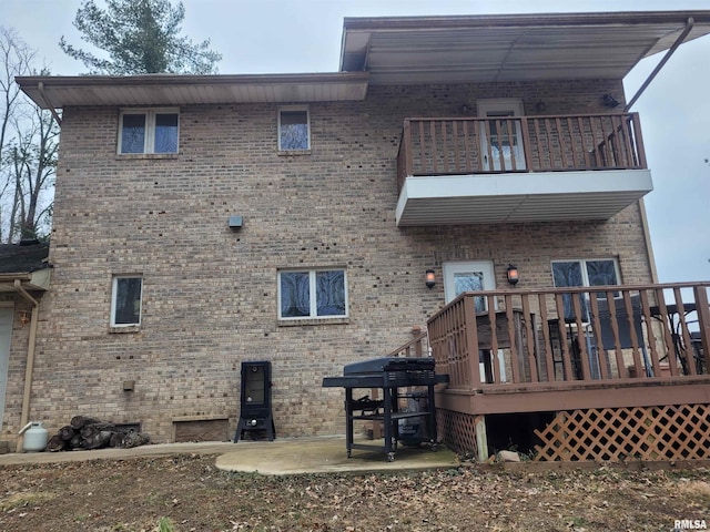
[[406, 119], [407, 176], [646, 168], [637, 113], [495, 119]]

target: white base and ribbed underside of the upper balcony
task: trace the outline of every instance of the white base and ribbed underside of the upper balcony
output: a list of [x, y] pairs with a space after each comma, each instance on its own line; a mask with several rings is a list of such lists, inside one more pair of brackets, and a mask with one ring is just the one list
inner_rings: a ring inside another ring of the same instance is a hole
[[609, 219], [652, 190], [648, 170], [409, 176], [399, 193], [396, 223]]

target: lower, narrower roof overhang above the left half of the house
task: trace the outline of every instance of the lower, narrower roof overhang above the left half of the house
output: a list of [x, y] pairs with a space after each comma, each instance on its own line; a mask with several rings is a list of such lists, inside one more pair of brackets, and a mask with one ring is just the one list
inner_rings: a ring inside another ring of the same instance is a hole
[[364, 100], [366, 72], [256, 75], [19, 76], [42, 109], [74, 105], [192, 105]]

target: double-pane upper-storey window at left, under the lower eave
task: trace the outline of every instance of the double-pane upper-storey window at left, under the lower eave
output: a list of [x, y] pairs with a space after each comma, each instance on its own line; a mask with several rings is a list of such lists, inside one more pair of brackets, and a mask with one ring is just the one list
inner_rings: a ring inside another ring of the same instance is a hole
[[121, 111], [119, 153], [178, 153], [176, 109]]

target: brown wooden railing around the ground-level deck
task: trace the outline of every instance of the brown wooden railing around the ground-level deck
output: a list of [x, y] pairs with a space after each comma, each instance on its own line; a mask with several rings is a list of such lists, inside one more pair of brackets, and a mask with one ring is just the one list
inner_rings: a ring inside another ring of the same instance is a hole
[[428, 320], [428, 341], [448, 389], [463, 392], [707, 377], [708, 287], [469, 291]]

